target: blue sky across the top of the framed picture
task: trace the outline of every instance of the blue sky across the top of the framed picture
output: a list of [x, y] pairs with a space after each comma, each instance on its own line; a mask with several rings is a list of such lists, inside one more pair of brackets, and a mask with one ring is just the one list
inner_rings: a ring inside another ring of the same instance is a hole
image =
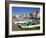
[[35, 8], [35, 7], [12, 7], [12, 15], [16, 16], [18, 15], [25, 15], [25, 14], [30, 14], [34, 13], [36, 11], [40, 11], [40, 8]]

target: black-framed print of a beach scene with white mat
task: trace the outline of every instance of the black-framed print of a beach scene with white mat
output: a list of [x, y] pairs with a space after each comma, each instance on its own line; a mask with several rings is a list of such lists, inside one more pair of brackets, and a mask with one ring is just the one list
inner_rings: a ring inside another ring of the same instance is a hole
[[45, 3], [6, 2], [6, 37], [45, 34]]

